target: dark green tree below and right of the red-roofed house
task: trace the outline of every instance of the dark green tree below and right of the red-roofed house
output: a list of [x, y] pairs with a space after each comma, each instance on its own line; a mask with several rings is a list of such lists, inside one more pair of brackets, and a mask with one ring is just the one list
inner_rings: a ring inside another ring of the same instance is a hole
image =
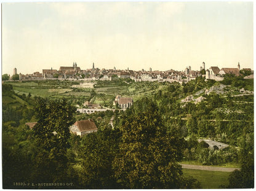
[[82, 138], [79, 149], [81, 172], [79, 182], [88, 189], [116, 189], [112, 161], [118, 150], [119, 130], [105, 128]]

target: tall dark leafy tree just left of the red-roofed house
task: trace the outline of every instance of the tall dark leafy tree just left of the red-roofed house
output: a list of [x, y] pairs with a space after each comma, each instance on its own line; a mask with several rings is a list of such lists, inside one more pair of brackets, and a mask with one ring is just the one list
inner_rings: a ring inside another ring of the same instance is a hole
[[33, 132], [39, 152], [34, 164], [34, 181], [63, 181], [67, 170], [69, 147], [69, 127], [74, 123], [75, 108], [60, 101], [51, 100], [49, 104], [42, 98], [37, 99], [36, 117], [38, 123]]

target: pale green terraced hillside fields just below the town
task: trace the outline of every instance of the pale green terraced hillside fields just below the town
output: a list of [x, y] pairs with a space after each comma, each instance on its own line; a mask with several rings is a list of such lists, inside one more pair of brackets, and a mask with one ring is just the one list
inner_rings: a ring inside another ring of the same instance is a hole
[[[43, 80], [28, 82], [5, 82], [11, 84], [18, 95], [41, 96], [43, 98], [68, 98], [72, 104], [79, 103], [82, 107], [84, 101], [103, 104], [112, 107], [116, 95], [131, 97], [134, 101], [143, 96], [151, 96], [157, 90], [165, 87], [158, 82], [126, 82], [124, 80], [76, 82]], [[95, 85], [95, 87], [94, 87]]]

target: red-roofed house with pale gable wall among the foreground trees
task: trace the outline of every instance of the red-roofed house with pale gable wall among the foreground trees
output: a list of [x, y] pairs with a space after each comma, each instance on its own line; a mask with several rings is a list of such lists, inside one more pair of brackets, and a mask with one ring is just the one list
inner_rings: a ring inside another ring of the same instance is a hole
[[87, 119], [77, 121], [71, 125], [70, 131], [76, 135], [84, 136], [84, 134], [97, 132], [98, 128], [92, 119]]

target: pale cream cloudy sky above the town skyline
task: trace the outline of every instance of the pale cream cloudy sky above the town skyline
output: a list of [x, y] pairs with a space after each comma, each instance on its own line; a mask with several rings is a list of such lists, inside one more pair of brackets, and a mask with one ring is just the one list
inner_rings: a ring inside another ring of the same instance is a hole
[[254, 69], [253, 3], [4, 2], [2, 74], [42, 69]]

